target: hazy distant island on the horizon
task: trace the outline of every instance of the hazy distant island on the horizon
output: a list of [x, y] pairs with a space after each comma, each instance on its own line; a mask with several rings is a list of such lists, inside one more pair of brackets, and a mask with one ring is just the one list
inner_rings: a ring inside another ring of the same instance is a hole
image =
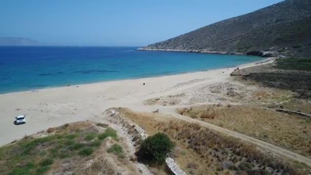
[[29, 38], [0, 37], [0, 46], [40, 46], [40, 42]]

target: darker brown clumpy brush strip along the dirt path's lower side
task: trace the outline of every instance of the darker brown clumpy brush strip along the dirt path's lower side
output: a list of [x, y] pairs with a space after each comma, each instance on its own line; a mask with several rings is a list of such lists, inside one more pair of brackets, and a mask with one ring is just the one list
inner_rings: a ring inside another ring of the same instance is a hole
[[294, 168], [259, 151], [256, 147], [237, 139], [222, 136], [198, 124], [170, 121], [168, 125], [158, 124], [160, 130], [169, 133], [174, 139], [188, 143], [198, 155], [211, 166], [213, 161], [224, 164], [218, 169], [247, 172], [294, 173]]

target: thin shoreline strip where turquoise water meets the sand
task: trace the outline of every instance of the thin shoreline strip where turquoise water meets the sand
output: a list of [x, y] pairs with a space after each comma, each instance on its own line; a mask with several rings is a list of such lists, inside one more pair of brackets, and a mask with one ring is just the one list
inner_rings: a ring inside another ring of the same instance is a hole
[[[169, 51], [169, 52], [179, 52], [179, 51]], [[216, 53], [215, 53], [216, 54]], [[246, 62], [240, 65], [232, 65], [229, 67], [221, 67], [221, 68], [215, 68], [215, 69], [208, 69], [208, 70], [201, 70], [201, 71], [190, 71], [190, 72], [181, 72], [181, 73], [172, 73], [172, 74], [162, 74], [162, 75], [154, 75], [154, 76], [145, 76], [145, 77], [134, 77], [134, 78], [125, 78], [125, 79], [115, 79], [115, 80], [103, 80], [103, 81], [95, 81], [95, 82], [85, 82], [85, 83], [71, 83], [70, 86], [80, 86], [80, 85], [87, 85], [87, 84], [98, 84], [98, 83], [105, 83], [105, 82], [115, 82], [115, 81], [125, 81], [125, 80], [136, 80], [136, 79], [144, 79], [144, 78], [156, 78], [156, 77], [165, 77], [165, 76], [173, 76], [173, 75], [183, 75], [183, 74], [192, 74], [192, 73], [198, 73], [198, 72], [208, 72], [208, 71], [214, 71], [214, 70], [218, 70], [218, 69], [225, 69], [225, 68], [235, 68], [235, 67], [241, 67], [242, 65], [245, 64], [250, 64], [250, 63], [254, 63], [254, 64], [259, 64], [259, 63], [263, 63], [264, 61], [270, 61], [269, 59], [274, 58], [274, 57], [268, 57], [268, 58], [263, 58], [257, 61], [251, 61], [251, 62]], [[275, 59], [275, 58], [274, 58]], [[38, 89], [29, 89], [29, 90], [21, 90], [21, 91], [12, 91], [12, 92], [0, 92], [0, 95], [4, 95], [4, 94], [13, 94], [13, 93], [23, 93], [23, 92], [33, 92], [33, 91], [42, 91], [42, 90], [47, 90], [47, 89], [55, 89], [55, 88], [65, 88], [65, 87], [70, 87], [68, 85], [59, 85], [59, 86], [49, 86], [46, 88], [38, 88]]]

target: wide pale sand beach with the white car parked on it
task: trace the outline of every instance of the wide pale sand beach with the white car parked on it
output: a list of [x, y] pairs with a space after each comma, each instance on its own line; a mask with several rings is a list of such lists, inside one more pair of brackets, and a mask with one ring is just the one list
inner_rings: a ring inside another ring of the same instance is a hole
[[[271, 63], [265, 62], [265, 63]], [[255, 62], [240, 65], [247, 68]], [[151, 112], [157, 106], [145, 106], [143, 100], [174, 95], [200, 84], [230, 81], [234, 68], [179, 75], [120, 80], [79, 87], [42, 89], [0, 95], [0, 145], [42, 129], [80, 120], [94, 120], [109, 107], [129, 107]], [[224, 73], [223, 73], [224, 72]], [[201, 81], [192, 81], [202, 79]], [[146, 83], [146, 85], [143, 85]], [[183, 85], [177, 85], [182, 83]], [[163, 106], [162, 106], [163, 107]], [[26, 115], [27, 123], [14, 125], [14, 117]]]

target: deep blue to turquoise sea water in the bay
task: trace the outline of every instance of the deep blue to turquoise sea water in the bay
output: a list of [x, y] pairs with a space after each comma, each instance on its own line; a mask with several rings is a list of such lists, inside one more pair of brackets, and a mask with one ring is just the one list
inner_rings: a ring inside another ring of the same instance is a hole
[[254, 56], [136, 47], [0, 47], [0, 93], [230, 67]]

